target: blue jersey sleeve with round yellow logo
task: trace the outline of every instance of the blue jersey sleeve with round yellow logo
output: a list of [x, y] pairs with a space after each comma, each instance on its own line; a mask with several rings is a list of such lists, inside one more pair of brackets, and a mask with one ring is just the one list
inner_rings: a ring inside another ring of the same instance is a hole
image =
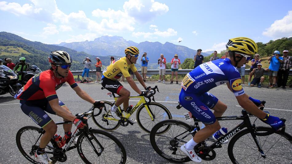
[[229, 68], [228, 81], [235, 96], [240, 96], [244, 94], [244, 90], [241, 85], [241, 76], [237, 68], [233, 66]]

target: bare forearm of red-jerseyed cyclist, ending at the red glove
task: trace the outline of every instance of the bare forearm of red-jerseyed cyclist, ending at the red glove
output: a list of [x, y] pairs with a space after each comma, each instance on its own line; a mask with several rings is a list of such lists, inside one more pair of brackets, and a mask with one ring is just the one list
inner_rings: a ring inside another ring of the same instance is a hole
[[[76, 87], [75, 87], [76, 88]], [[69, 113], [66, 109], [62, 108], [59, 105], [59, 99], [53, 99], [49, 101], [50, 106], [52, 107], [53, 111], [56, 112], [56, 114], [64, 119], [74, 121], [76, 116]]]

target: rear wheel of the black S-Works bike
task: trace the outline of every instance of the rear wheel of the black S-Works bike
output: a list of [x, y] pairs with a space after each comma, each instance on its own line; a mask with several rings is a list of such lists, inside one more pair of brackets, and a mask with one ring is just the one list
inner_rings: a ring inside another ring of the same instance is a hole
[[[157, 135], [157, 131], [161, 127], [168, 125], [170, 125], [170, 129], [167, 131], [167, 133]], [[183, 145], [184, 143], [187, 143], [193, 136], [189, 135], [188, 137], [177, 143], [179, 140], [174, 139], [173, 138], [174, 135], [171, 134], [175, 133], [177, 135], [183, 133], [184, 131], [186, 131], [187, 133], [191, 132], [192, 131], [191, 126], [182, 121], [173, 119], [161, 121], [152, 128], [150, 133], [150, 143], [153, 149], [156, 151], [156, 153], [159, 154], [161, 157], [167, 159], [168, 161], [176, 163], [191, 161], [191, 159], [180, 150], [180, 146]], [[173, 145], [171, 145], [171, 143], [173, 143]]]

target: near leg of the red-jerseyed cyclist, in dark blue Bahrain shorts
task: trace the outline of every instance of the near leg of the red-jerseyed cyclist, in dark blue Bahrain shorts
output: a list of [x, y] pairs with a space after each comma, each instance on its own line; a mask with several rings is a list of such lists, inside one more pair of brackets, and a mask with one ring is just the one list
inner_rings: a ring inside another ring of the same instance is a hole
[[[50, 142], [51, 138], [57, 132], [57, 125], [54, 121], [47, 115], [43, 109], [45, 104], [44, 101], [40, 100], [38, 104], [34, 101], [20, 100], [20, 107], [22, 111], [28, 115], [37, 125], [45, 130], [45, 134], [41, 136], [40, 148], [45, 148]], [[42, 107], [41, 107], [42, 106]]]

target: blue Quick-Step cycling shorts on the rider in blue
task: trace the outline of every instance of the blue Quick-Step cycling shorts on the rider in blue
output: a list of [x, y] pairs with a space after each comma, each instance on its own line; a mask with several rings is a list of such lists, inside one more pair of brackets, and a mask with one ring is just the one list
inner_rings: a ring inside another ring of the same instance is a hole
[[211, 93], [195, 94], [182, 89], [179, 100], [180, 104], [202, 123], [209, 125], [215, 123], [216, 117], [210, 109], [216, 105], [218, 99]]

